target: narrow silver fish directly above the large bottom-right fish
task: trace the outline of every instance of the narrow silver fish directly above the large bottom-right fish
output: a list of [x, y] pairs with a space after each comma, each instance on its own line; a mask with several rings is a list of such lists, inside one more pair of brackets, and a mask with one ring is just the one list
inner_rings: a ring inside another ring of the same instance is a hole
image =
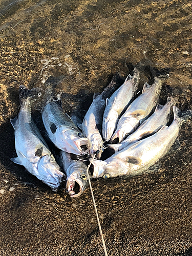
[[123, 148], [127, 147], [129, 144], [134, 143], [142, 139], [143, 137], [158, 132], [163, 125], [167, 124], [169, 119], [170, 108], [174, 103], [174, 98], [168, 98], [165, 105], [157, 105], [153, 115], [146, 119], [134, 133], [128, 136], [121, 143], [110, 144], [108, 146], [114, 148], [115, 152], [118, 152]]

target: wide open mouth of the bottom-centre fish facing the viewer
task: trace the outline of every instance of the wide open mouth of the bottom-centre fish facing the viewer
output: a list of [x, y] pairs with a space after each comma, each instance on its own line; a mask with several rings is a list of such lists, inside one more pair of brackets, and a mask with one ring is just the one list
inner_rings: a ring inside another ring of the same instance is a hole
[[66, 184], [66, 192], [70, 194], [72, 198], [79, 197], [83, 193], [83, 184], [79, 178], [71, 180], [68, 178]]

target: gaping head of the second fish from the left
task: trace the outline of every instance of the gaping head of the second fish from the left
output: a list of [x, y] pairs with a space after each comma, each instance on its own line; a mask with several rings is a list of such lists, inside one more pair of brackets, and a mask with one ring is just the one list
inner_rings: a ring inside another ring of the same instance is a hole
[[57, 127], [56, 140], [59, 148], [75, 155], [84, 155], [90, 151], [91, 141], [75, 129], [63, 129], [61, 125]]

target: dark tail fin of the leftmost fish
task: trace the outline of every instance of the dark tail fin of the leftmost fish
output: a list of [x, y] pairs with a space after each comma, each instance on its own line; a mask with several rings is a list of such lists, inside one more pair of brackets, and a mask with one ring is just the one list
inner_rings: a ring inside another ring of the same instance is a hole
[[42, 95], [40, 88], [33, 88], [29, 90], [25, 86], [19, 86], [18, 92], [21, 106], [29, 106], [31, 102], [36, 101]]

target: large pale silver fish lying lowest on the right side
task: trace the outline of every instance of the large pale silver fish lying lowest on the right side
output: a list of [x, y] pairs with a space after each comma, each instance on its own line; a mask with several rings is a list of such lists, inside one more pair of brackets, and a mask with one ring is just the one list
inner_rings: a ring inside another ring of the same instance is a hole
[[137, 175], [163, 157], [175, 142], [184, 119], [178, 116], [179, 110], [176, 106], [173, 111], [172, 124], [163, 125], [156, 134], [125, 147], [105, 161], [93, 160], [93, 177], [106, 179]]

